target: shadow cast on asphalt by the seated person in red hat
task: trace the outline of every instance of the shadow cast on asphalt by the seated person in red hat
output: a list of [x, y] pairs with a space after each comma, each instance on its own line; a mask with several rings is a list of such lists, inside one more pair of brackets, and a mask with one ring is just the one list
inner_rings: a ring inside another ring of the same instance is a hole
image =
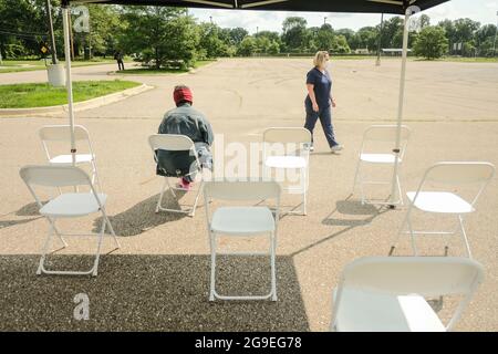
[[[178, 194], [177, 194], [178, 195]], [[178, 195], [180, 198], [183, 195]], [[186, 214], [159, 211], [156, 214], [156, 205], [159, 199], [159, 195], [152, 196], [132, 208], [120, 212], [114, 216], [108, 216], [111, 225], [114, 228], [116, 236], [129, 237], [137, 236], [155, 227], [164, 225], [166, 222], [177, 221], [185, 217]], [[168, 190], [163, 196], [163, 207], [179, 208], [179, 205]], [[102, 226], [102, 217], [98, 217], [93, 221], [93, 232], [100, 232]], [[110, 230], [106, 228], [106, 232]]]

